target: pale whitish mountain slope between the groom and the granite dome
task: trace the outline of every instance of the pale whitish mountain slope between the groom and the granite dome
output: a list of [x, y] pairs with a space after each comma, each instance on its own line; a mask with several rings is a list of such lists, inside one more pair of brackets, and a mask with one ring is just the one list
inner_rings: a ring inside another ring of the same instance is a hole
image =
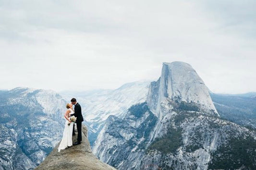
[[107, 94], [87, 96], [80, 102], [85, 106], [83, 112], [88, 122], [102, 122], [110, 115], [122, 117], [135, 103], [145, 102], [149, 81], [136, 81], [109, 91]]

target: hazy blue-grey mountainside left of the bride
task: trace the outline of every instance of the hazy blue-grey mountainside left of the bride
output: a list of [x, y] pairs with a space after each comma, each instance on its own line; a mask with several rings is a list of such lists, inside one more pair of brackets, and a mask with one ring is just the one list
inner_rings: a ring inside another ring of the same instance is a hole
[[66, 102], [50, 90], [0, 92], [0, 169], [34, 169], [62, 136]]

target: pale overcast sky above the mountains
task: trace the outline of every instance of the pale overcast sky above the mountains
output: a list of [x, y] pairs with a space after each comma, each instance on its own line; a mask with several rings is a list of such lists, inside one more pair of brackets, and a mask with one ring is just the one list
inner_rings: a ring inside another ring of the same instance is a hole
[[0, 0], [0, 89], [115, 89], [189, 63], [216, 93], [256, 91], [255, 0]]

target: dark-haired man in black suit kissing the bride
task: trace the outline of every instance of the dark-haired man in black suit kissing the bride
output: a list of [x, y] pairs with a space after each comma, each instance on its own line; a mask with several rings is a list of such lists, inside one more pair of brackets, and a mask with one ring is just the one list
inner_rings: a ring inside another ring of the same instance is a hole
[[[72, 104], [74, 105], [74, 113], [71, 114], [71, 116], [76, 117], [76, 128], [77, 128], [77, 142], [75, 142], [73, 145], [79, 145], [82, 141], [82, 122], [84, 121], [83, 115], [82, 115], [82, 109], [78, 102], [76, 102], [76, 99], [71, 99]], [[74, 134], [74, 126], [73, 126], [73, 134]]]

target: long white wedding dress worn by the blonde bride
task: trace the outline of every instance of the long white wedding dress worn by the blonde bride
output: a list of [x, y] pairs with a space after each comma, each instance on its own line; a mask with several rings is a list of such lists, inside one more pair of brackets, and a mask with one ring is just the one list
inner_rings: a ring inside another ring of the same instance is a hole
[[[69, 108], [68, 110], [70, 110], [71, 112], [69, 113], [69, 117], [70, 117], [70, 114], [73, 114], [74, 111]], [[60, 146], [58, 147], [58, 152], [60, 152], [62, 149], [65, 149], [67, 147], [71, 147], [73, 145], [73, 142], [72, 142], [72, 132], [73, 132], [73, 122], [68, 125], [69, 121], [66, 120], [65, 122], [65, 128], [64, 128], [64, 131], [63, 131], [63, 136], [62, 136], [62, 139], [61, 139], [61, 144]]]

